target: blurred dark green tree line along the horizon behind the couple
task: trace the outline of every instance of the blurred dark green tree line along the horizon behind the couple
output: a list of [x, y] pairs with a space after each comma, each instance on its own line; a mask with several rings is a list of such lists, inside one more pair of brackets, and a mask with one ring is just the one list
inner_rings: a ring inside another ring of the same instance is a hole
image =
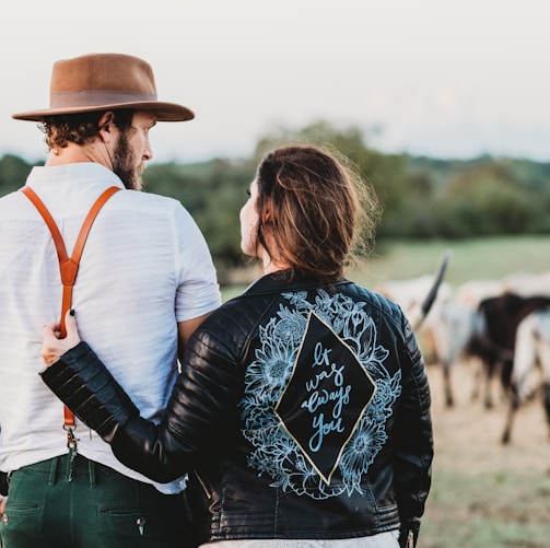
[[[215, 261], [241, 265], [238, 211], [246, 189], [262, 154], [288, 142], [328, 143], [355, 164], [383, 207], [378, 241], [550, 234], [550, 162], [388, 154], [370, 147], [360, 128], [325, 120], [277, 128], [258, 140], [249, 158], [152, 164], [144, 173], [145, 191], [182, 201]], [[20, 188], [31, 167], [11, 154], [0, 159], [0, 195]]]

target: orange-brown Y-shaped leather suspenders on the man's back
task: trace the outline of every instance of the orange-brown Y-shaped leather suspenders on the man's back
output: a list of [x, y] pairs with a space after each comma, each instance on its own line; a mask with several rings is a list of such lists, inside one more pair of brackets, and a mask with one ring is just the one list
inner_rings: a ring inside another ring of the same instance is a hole
[[[38, 198], [36, 193], [31, 187], [25, 186], [21, 189], [21, 191], [33, 202], [35, 208], [38, 210], [38, 213], [40, 213], [40, 215], [43, 217], [49, 229], [49, 232], [51, 233], [54, 243], [56, 244], [57, 258], [59, 260], [59, 271], [61, 273], [61, 282], [63, 284], [63, 298], [61, 302], [61, 337], [65, 337], [67, 335], [65, 315], [71, 307], [72, 288], [74, 285], [74, 281], [77, 280], [80, 258], [82, 256], [82, 250], [84, 249], [84, 244], [86, 243], [87, 234], [90, 233], [90, 229], [92, 228], [92, 224], [95, 221], [95, 218], [97, 217], [100, 210], [103, 208], [105, 202], [118, 190], [120, 190], [120, 188], [116, 186], [109, 187], [100, 196], [100, 198], [97, 198], [95, 203], [92, 206], [92, 209], [87, 213], [82, 228], [80, 229], [79, 236], [77, 237], [77, 242], [72, 250], [72, 256], [69, 258], [67, 248], [65, 247], [63, 237], [61, 236], [56, 221], [54, 221], [54, 218], [49, 213], [44, 202]], [[75, 447], [75, 440], [72, 435], [72, 429], [74, 428], [74, 415], [67, 407], [65, 407], [63, 413], [63, 428], [69, 432], [69, 444], [72, 443], [73, 447]]]

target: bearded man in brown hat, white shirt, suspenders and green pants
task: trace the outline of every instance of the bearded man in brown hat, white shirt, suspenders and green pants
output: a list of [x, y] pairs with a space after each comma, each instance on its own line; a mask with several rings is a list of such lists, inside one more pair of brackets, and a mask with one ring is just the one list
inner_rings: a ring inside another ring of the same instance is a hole
[[[84, 237], [70, 305], [83, 336], [155, 420], [178, 350], [221, 302], [188, 212], [134, 191], [153, 156], [150, 129], [194, 113], [157, 101], [145, 61], [93, 54], [56, 62], [49, 108], [13, 117], [45, 132], [46, 164], [25, 188], [49, 211], [68, 255], [98, 196], [115, 187]], [[59, 247], [43, 217], [23, 191], [0, 198], [0, 470], [9, 478], [0, 539], [15, 548], [192, 546], [184, 480], [152, 485], [120, 465], [95, 432], [66, 420], [42, 383], [43, 326], [59, 320], [65, 300]]]

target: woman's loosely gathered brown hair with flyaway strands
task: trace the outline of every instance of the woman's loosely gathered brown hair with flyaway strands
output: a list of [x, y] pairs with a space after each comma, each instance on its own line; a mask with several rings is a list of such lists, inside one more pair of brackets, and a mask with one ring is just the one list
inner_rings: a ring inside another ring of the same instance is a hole
[[257, 242], [292, 275], [335, 281], [351, 253], [373, 243], [376, 196], [336, 151], [280, 147], [260, 162], [256, 183]]

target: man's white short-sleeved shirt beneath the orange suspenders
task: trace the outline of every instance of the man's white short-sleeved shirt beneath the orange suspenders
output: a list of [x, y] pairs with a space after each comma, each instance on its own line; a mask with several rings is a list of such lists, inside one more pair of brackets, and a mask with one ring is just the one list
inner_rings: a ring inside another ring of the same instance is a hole
[[[35, 167], [28, 176], [69, 255], [90, 208], [109, 186], [95, 163]], [[62, 285], [54, 241], [23, 193], [0, 198], [0, 469], [67, 453], [62, 404], [38, 372], [44, 324], [59, 320]], [[80, 335], [108, 365], [143, 417], [157, 420], [177, 374], [177, 323], [221, 303], [208, 246], [172, 198], [121, 190], [90, 231], [73, 288]], [[78, 451], [127, 476], [109, 445], [77, 421]], [[179, 482], [157, 486], [180, 490]]]

